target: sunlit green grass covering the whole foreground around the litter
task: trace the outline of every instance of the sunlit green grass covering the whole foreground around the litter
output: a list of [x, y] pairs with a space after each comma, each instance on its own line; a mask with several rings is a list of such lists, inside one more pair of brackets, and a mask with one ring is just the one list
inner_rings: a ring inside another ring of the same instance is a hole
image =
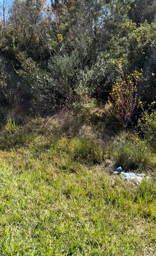
[[72, 136], [15, 127], [10, 140], [7, 132], [0, 138], [0, 255], [156, 255], [154, 183], [133, 186], [106, 171], [107, 157], [122, 159], [123, 133], [105, 141], [86, 126]]

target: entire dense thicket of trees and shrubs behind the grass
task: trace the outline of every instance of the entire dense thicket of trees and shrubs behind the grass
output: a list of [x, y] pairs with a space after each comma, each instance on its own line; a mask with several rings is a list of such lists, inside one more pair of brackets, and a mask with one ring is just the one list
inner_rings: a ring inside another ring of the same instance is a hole
[[109, 113], [136, 125], [156, 100], [154, 8], [154, 0], [15, 0], [0, 25], [1, 104], [18, 98], [25, 110], [66, 106], [83, 119]]

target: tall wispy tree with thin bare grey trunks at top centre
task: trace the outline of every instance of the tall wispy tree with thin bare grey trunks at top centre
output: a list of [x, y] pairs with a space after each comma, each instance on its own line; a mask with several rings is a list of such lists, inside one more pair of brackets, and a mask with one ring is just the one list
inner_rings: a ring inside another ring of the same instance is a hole
[[[57, 43], [56, 33], [61, 33], [61, 52], [76, 49], [79, 53], [79, 65], [83, 68], [86, 64], [95, 63], [99, 52], [106, 49], [112, 34], [116, 33], [115, 28], [117, 30], [119, 23], [127, 18], [131, 2], [51, 0], [49, 36]], [[60, 54], [60, 49], [57, 54]]]

